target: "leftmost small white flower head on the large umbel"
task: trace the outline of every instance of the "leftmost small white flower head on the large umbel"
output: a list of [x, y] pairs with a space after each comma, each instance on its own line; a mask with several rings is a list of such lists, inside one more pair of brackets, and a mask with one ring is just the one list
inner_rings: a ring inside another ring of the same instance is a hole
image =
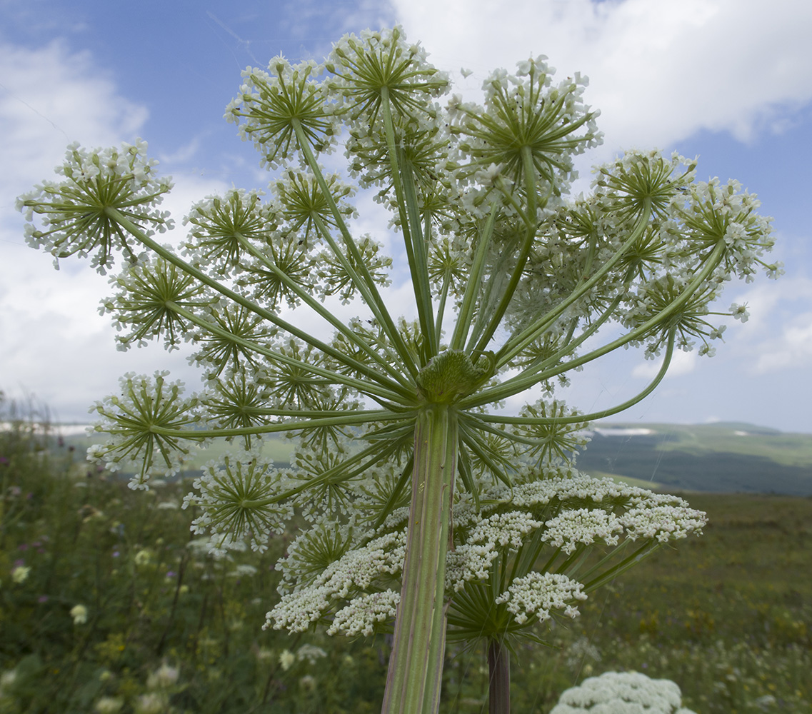
[[[28, 244], [50, 252], [57, 267], [59, 258], [88, 256], [94, 251], [91, 265], [102, 274], [113, 264], [116, 250], [136, 261], [137, 249], [114, 213], [140, 226], [147, 235], [171, 228], [169, 213], [155, 208], [171, 189], [171, 179], [158, 177], [158, 161], [147, 158], [146, 149], [141, 140], [92, 151], [71, 144], [64, 164], [56, 167], [63, 181], [44, 181], [17, 199], [17, 209], [28, 221]], [[42, 230], [34, 225], [35, 214]]]

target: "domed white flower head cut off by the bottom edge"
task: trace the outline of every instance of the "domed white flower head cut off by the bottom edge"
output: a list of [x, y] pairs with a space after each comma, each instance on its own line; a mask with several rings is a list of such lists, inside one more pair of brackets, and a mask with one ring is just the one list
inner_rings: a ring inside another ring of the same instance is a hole
[[605, 672], [561, 695], [550, 714], [694, 714], [682, 706], [680, 687], [639, 672]]

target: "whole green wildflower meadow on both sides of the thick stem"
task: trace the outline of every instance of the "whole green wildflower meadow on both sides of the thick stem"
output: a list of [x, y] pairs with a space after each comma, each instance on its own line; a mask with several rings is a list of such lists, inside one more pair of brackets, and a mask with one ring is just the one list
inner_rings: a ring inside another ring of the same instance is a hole
[[[61, 444], [61, 445], [60, 445]], [[0, 433], [0, 712], [376, 712], [387, 637], [261, 630], [268, 553], [214, 558], [188, 483], [132, 492], [70, 443]], [[576, 621], [512, 655], [516, 712], [549, 712], [587, 676], [666, 677], [698, 714], [812, 712], [812, 498], [685, 494], [701, 538], [596, 591]], [[486, 712], [476, 646], [449, 649], [443, 712]]]

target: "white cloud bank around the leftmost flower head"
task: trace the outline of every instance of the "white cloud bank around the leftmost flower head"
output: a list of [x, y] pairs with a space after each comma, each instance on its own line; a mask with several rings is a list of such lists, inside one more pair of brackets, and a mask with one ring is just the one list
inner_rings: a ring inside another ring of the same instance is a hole
[[[81, 419], [87, 395], [114, 391], [123, 372], [171, 368], [192, 376], [184, 355], [157, 346], [117, 352], [110, 316], [97, 311], [110, 292], [106, 278], [82, 260], [63, 260], [54, 272], [48, 256], [25, 246], [14, 210], [15, 196], [53, 175], [66, 144], [132, 141], [147, 110], [123, 97], [90, 54], [58, 41], [40, 49], [0, 45], [0, 76], [0, 388], [12, 397], [33, 392], [61, 418]], [[224, 187], [181, 174], [164, 207], [179, 223], [194, 200]]]

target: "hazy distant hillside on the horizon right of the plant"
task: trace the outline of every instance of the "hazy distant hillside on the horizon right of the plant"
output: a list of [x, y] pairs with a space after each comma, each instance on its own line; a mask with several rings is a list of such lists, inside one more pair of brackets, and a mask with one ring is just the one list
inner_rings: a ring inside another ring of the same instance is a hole
[[663, 490], [812, 496], [812, 435], [753, 424], [596, 424], [581, 471]]

